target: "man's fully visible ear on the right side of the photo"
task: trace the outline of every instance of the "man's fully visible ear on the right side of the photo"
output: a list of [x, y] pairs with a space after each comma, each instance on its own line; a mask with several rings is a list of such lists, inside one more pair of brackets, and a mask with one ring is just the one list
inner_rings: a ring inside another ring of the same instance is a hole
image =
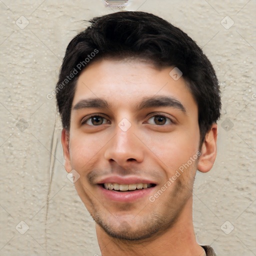
[[213, 166], [217, 154], [217, 124], [213, 123], [210, 130], [206, 133], [201, 147], [201, 155], [197, 163], [197, 169], [207, 172]]

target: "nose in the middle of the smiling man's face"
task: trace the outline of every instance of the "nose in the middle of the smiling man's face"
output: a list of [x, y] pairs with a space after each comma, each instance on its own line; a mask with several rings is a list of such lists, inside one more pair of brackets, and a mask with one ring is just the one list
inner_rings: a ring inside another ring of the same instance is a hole
[[116, 126], [115, 135], [107, 143], [104, 157], [109, 162], [115, 162], [123, 168], [129, 167], [135, 162], [139, 163], [144, 158], [145, 145], [130, 127], [124, 131]]

